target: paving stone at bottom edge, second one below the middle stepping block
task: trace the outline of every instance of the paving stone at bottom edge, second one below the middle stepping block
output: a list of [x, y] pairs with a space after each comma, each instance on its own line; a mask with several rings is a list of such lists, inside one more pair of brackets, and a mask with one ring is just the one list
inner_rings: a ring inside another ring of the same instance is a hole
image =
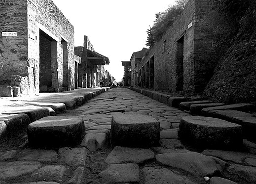
[[135, 163], [110, 164], [100, 175], [110, 183], [137, 183], [140, 169]]

